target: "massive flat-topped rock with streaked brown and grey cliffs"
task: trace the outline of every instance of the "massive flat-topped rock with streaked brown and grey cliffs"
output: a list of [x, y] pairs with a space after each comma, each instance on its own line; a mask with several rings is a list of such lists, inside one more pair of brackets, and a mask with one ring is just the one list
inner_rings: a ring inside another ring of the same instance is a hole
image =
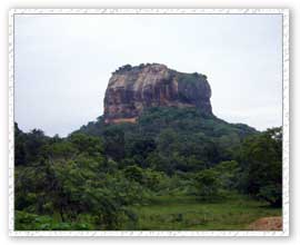
[[104, 121], [136, 122], [149, 107], [196, 107], [212, 115], [211, 90], [207, 77], [183, 74], [164, 65], [148, 63], [116, 70], [104, 97]]

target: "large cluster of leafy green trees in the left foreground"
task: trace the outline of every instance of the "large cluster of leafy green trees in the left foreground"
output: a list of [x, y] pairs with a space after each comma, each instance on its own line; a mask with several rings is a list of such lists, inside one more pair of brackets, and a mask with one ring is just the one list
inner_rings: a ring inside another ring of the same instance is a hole
[[[91, 224], [78, 229], [118, 229], [123, 220], [137, 218], [127, 207], [141, 199], [141, 187], [132, 185], [117, 173], [116, 164], [103, 156], [100, 138], [74, 134], [63, 140], [49, 140], [41, 146], [38, 163], [16, 169], [16, 209], [20, 213], [20, 229], [28, 218], [56, 217], [62, 225], [50, 224], [41, 229], [72, 229], [70, 225], [82, 214], [91, 214]], [[120, 195], [126, 192], [127, 195]], [[37, 219], [38, 220], [38, 219]], [[39, 222], [36, 222], [39, 224]], [[34, 223], [34, 224], [36, 224]], [[34, 227], [28, 227], [38, 229]]]

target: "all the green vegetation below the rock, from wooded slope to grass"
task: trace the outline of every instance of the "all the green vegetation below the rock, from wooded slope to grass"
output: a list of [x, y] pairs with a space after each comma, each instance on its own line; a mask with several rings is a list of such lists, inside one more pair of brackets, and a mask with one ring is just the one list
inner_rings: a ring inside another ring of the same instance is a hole
[[281, 207], [281, 127], [171, 107], [67, 137], [14, 124], [16, 231], [241, 231]]

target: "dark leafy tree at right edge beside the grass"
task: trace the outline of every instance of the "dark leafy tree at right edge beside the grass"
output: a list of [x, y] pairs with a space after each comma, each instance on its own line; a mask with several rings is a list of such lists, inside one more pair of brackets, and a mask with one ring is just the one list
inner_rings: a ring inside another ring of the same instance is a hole
[[250, 137], [240, 147], [240, 188], [273, 206], [282, 204], [282, 128]]

